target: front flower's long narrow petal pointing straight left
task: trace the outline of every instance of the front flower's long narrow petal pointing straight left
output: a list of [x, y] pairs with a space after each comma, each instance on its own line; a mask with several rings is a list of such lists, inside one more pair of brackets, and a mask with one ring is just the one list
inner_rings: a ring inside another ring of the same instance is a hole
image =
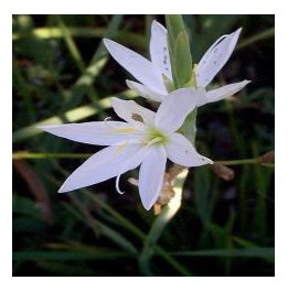
[[113, 146], [138, 137], [138, 131], [127, 122], [97, 121], [42, 126], [40, 129], [61, 138], [98, 146]]

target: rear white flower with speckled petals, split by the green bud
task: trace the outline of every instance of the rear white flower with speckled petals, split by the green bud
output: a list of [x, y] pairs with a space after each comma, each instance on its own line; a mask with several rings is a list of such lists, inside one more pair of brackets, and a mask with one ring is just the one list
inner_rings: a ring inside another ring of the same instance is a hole
[[[239, 37], [241, 29], [221, 36], [206, 51], [196, 66], [196, 88], [205, 91], [220, 69], [226, 64], [235, 48]], [[172, 83], [171, 63], [168, 52], [167, 30], [159, 22], [153, 21], [151, 25], [150, 57], [151, 62], [134, 51], [110, 40], [104, 40], [110, 55], [140, 83], [127, 80], [129, 88], [136, 90], [140, 96], [161, 103], [169, 94]], [[207, 90], [201, 95], [198, 106], [214, 103], [232, 96], [244, 88], [249, 80], [243, 80], [223, 86], [217, 89]]]

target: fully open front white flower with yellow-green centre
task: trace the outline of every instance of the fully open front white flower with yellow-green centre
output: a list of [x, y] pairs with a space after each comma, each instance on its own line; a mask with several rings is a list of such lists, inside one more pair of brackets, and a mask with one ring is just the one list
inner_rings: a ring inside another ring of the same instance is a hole
[[117, 176], [116, 187], [120, 192], [120, 175], [141, 164], [139, 193], [145, 208], [150, 209], [162, 187], [167, 159], [184, 166], [213, 163], [199, 154], [185, 137], [175, 132], [196, 106], [195, 100], [200, 94], [193, 88], [174, 90], [166, 97], [157, 112], [132, 100], [113, 97], [114, 110], [126, 122], [98, 121], [40, 127], [70, 140], [109, 146], [76, 169], [58, 192], [89, 186], [114, 176]]

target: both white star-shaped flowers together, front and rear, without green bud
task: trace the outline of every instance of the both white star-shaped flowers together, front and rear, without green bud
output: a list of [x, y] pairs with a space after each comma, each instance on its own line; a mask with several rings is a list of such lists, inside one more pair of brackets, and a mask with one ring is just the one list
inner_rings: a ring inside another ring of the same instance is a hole
[[126, 80], [139, 96], [160, 103], [157, 111], [132, 100], [113, 97], [111, 107], [125, 121], [96, 121], [42, 126], [42, 130], [77, 142], [107, 146], [76, 169], [58, 192], [89, 186], [122, 173], [139, 170], [139, 193], [146, 209], [150, 209], [162, 188], [167, 160], [183, 166], [213, 163], [201, 155], [186, 137], [179, 132], [185, 118], [196, 107], [217, 101], [245, 87], [243, 80], [207, 90], [218, 71], [230, 58], [241, 30], [221, 36], [204, 54], [194, 69], [195, 86], [174, 89], [164, 26], [153, 21], [150, 39], [150, 58], [111, 40], [104, 40], [110, 55], [138, 82]]

